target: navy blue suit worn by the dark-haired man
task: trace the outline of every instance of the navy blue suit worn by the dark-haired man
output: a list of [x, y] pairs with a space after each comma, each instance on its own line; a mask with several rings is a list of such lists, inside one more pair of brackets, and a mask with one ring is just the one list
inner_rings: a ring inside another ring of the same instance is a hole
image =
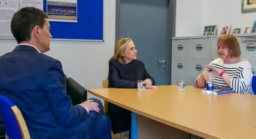
[[9, 97], [26, 121], [31, 138], [85, 138], [89, 117], [67, 95], [61, 62], [19, 45], [0, 56], [0, 94]]

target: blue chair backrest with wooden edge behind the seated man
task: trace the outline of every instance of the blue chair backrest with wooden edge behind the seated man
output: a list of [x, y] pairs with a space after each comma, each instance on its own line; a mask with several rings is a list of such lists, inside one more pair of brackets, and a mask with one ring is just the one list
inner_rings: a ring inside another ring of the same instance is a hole
[[30, 139], [26, 122], [17, 105], [4, 95], [0, 95], [0, 105], [0, 115], [7, 136], [15, 139]]

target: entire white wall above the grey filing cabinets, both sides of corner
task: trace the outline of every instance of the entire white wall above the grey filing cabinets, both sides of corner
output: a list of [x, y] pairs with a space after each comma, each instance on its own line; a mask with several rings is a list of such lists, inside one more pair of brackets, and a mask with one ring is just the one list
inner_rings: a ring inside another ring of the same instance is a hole
[[256, 12], [241, 13], [241, 0], [183, 0], [176, 9], [176, 37], [201, 36], [203, 26], [212, 24], [218, 25], [217, 34], [225, 24], [231, 24], [232, 32], [256, 19]]

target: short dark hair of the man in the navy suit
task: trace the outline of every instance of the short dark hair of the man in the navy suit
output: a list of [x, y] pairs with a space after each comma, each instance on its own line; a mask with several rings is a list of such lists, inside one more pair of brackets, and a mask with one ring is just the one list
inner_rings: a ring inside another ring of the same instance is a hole
[[29, 41], [32, 29], [35, 26], [43, 28], [47, 14], [35, 7], [24, 7], [13, 14], [11, 31], [19, 44], [22, 41]]

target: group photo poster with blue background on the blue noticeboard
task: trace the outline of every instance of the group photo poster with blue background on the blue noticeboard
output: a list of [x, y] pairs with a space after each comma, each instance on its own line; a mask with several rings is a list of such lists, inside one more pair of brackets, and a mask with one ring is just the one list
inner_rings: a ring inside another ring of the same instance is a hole
[[77, 22], [76, 0], [47, 0], [46, 5], [49, 21]]

